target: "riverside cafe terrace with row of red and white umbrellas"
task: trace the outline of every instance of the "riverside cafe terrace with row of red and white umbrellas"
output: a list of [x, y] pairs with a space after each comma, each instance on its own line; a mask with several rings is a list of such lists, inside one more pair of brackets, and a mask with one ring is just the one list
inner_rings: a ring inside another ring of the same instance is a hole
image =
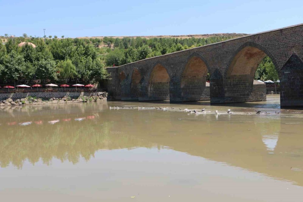
[[43, 92], [95, 92], [97, 84], [66, 84], [66, 83], [45, 83], [45, 84], [18, 84], [0, 85], [0, 93], [43, 93]]

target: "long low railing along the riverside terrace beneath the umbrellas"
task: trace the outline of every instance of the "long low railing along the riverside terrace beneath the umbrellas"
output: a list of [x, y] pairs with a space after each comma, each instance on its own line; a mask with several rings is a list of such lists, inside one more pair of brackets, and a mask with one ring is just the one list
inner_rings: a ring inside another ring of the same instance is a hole
[[0, 93], [44, 93], [44, 92], [97, 92], [96, 88], [19, 88], [0, 89]]

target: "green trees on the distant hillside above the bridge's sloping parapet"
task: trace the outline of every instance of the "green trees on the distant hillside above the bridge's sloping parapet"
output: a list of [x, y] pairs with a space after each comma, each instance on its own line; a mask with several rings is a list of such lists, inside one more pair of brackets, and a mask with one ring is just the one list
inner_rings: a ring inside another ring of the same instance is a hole
[[161, 56], [167, 53], [181, 51], [202, 45], [232, 39], [233, 36], [212, 36], [208, 38], [111, 38], [104, 37], [103, 42], [108, 47], [114, 47], [105, 57], [106, 66], [120, 66], [130, 62]]

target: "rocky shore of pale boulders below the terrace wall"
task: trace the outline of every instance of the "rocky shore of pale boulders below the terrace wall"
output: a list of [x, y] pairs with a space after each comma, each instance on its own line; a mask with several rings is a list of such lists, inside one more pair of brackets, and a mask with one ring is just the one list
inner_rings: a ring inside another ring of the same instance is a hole
[[64, 96], [62, 98], [37, 98], [27, 96], [21, 99], [8, 98], [0, 100], [0, 107], [2, 106], [16, 106], [16, 105], [28, 105], [28, 104], [51, 104], [51, 103], [80, 103], [80, 102], [98, 102], [107, 101], [108, 93], [97, 92], [95, 96], [79, 96], [69, 97]]

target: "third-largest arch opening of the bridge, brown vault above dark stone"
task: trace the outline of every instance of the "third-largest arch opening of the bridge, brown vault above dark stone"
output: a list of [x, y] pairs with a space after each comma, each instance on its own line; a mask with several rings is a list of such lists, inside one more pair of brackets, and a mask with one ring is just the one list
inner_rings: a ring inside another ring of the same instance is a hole
[[157, 64], [150, 74], [148, 82], [149, 100], [168, 100], [169, 99], [170, 77], [165, 67]]

